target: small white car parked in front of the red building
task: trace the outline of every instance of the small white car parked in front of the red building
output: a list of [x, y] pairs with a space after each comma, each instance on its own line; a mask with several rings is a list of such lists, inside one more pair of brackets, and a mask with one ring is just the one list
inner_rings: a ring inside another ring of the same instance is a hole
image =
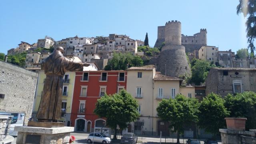
[[87, 142], [91, 143], [92, 141], [94, 142], [100, 142], [102, 144], [110, 144], [112, 142], [112, 139], [105, 136], [105, 134], [103, 133], [90, 133], [88, 138], [87, 138]]

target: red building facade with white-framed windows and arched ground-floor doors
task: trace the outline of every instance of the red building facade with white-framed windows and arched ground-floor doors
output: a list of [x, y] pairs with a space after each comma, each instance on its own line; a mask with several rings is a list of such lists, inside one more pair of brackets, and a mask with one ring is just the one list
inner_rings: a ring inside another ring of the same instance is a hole
[[71, 110], [71, 126], [75, 131], [92, 132], [104, 127], [106, 120], [93, 113], [97, 100], [104, 94], [114, 94], [126, 89], [127, 72], [84, 71], [76, 72]]

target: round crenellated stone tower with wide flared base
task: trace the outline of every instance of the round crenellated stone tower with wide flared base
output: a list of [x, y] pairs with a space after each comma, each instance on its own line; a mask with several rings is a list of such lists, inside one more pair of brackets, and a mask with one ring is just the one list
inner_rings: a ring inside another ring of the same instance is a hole
[[191, 75], [185, 47], [181, 45], [181, 23], [177, 20], [165, 24], [165, 45], [158, 57], [157, 69], [172, 77]]

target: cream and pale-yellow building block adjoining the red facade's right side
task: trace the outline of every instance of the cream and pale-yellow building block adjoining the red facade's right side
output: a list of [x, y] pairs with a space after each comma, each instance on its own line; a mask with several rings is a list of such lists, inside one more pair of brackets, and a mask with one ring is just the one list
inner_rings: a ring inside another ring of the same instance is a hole
[[[180, 87], [182, 79], [162, 75], [154, 66], [131, 67], [127, 70], [126, 90], [138, 100], [140, 118], [128, 125], [135, 134], [160, 135], [168, 125], [158, 118], [156, 108], [162, 99], [175, 98], [176, 94], [195, 97], [192, 86]], [[167, 135], [170, 132], [167, 133]]]

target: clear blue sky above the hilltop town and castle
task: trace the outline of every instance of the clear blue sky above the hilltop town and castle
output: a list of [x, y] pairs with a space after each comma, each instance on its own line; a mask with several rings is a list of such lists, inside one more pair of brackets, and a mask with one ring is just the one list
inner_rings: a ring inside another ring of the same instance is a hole
[[3, 0], [0, 4], [0, 52], [21, 41], [44, 36], [58, 41], [126, 34], [154, 46], [157, 26], [169, 20], [182, 24], [182, 34], [207, 29], [209, 46], [236, 52], [247, 48], [244, 22], [236, 14], [238, 0]]

